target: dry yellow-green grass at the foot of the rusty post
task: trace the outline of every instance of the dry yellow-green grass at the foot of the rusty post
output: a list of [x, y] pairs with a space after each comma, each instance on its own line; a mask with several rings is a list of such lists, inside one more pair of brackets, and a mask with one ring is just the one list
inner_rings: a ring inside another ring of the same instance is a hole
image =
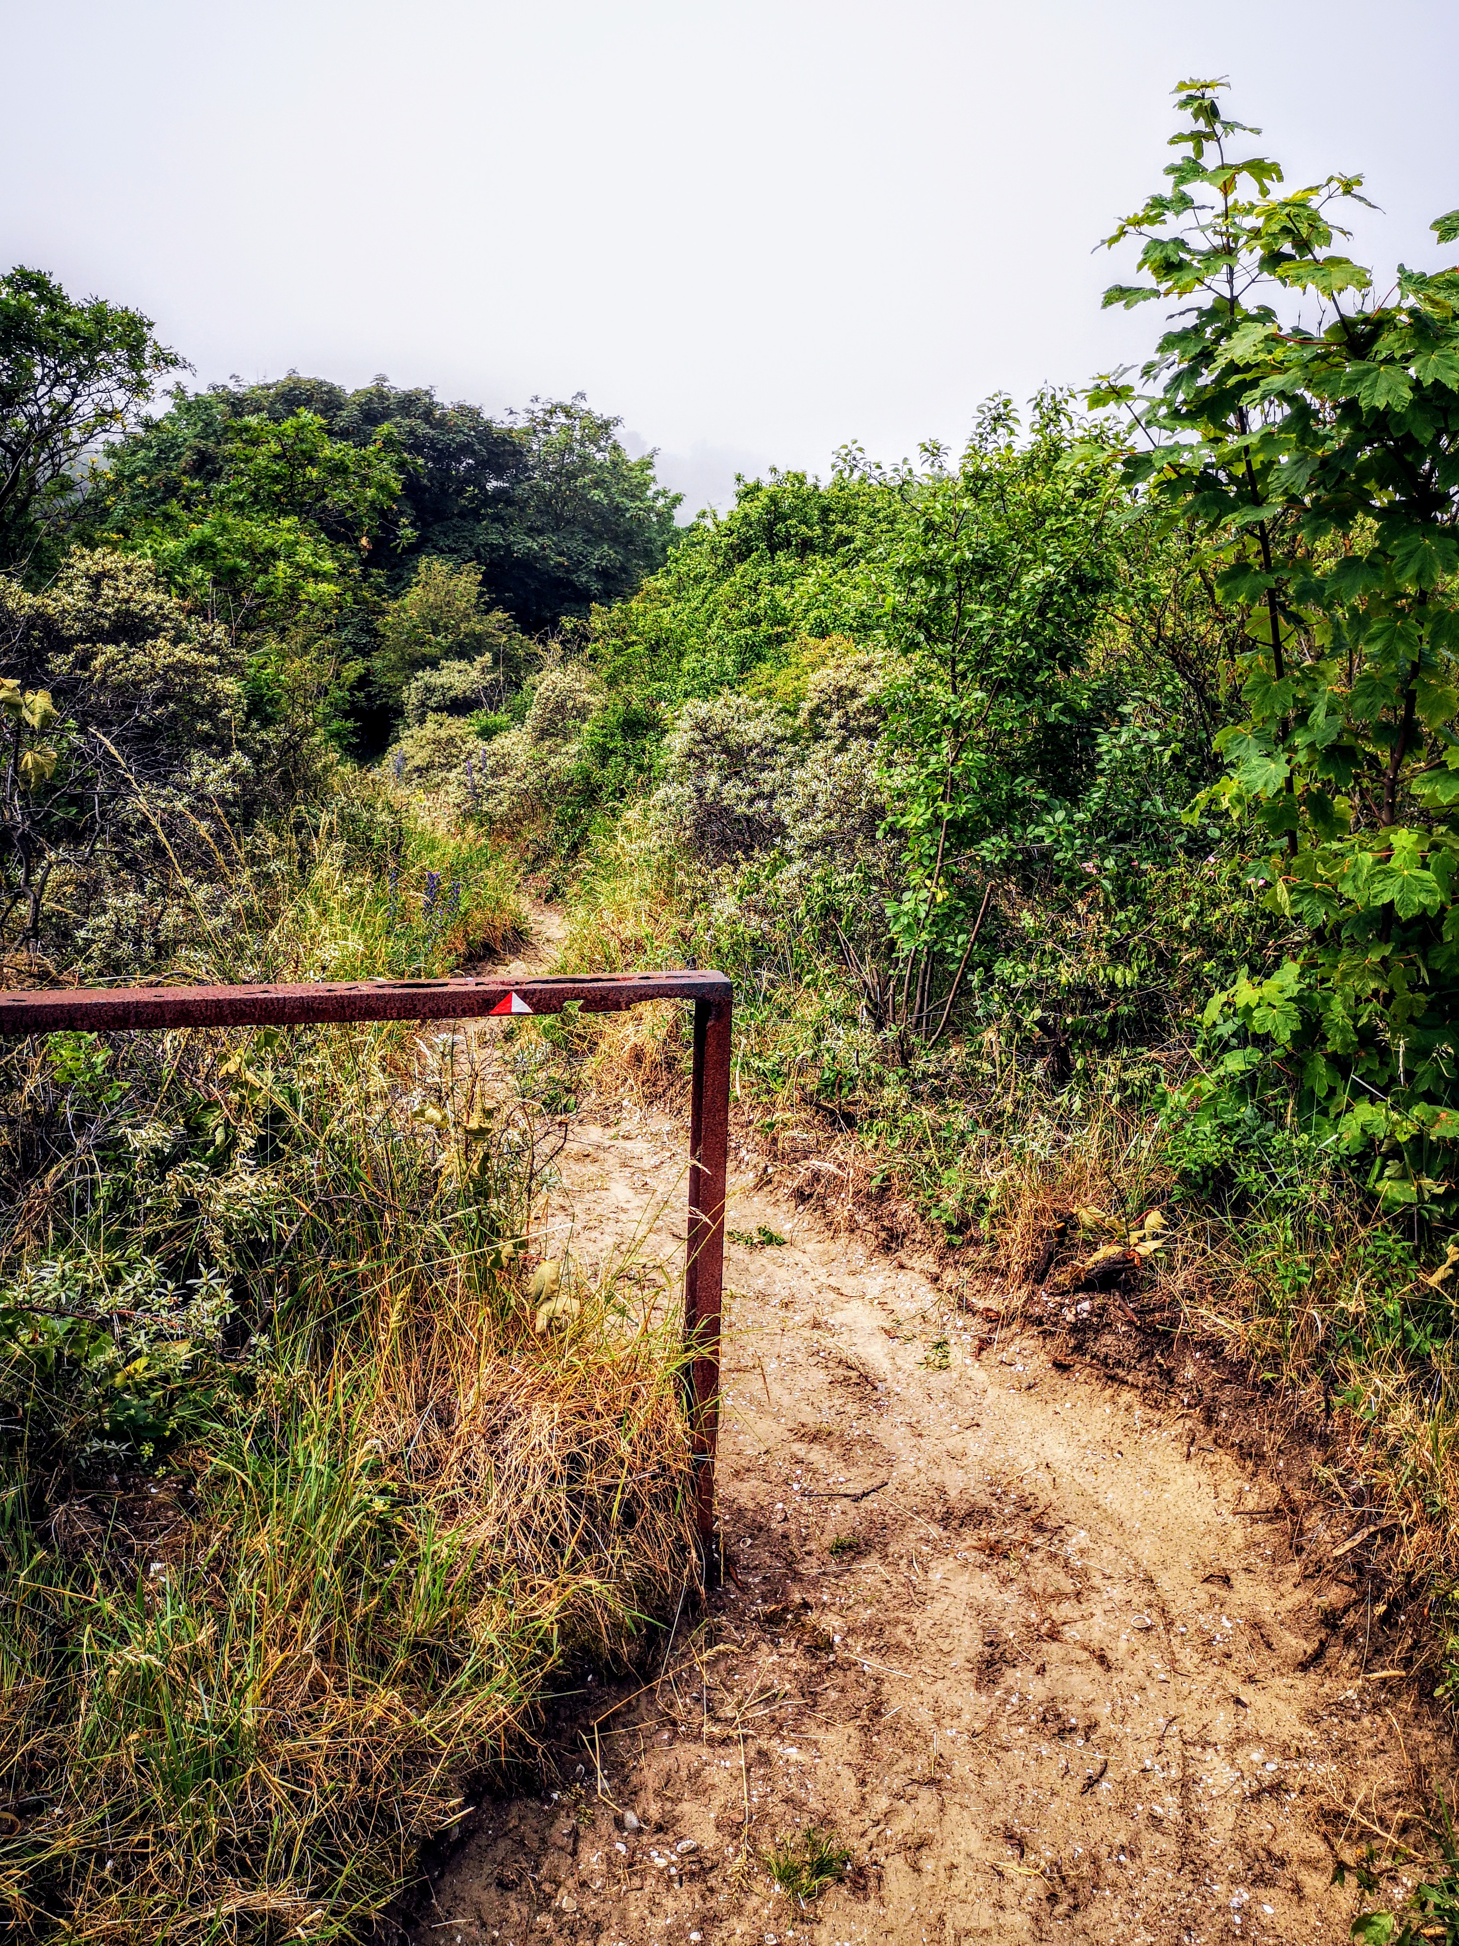
[[693, 1576], [673, 1374], [591, 1302], [543, 1341], [516, 1302], [383, 1294], [183, 1458], [165, 1539], [37, 1551], [0, 1711], [14, 1936], [333, 1938], [374, 1911], [549, 1674], [623, 1664]]

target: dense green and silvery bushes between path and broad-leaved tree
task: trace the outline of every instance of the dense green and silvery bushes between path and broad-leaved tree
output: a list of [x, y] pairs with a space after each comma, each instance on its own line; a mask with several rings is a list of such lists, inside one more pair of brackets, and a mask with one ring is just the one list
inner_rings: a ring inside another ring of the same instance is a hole
[[[663, 843], [825, 950], [881, 1057], [1012, 1012], [1066, 1068], [1165, 1031], [1247, 930], [1202, 864], [1218, 827], [1181, 817], [1218, 775], [1231, 617], [1189, 539], [1128, 514], [1099, 426], [1056, 395], [1027, 430], [990, 401], [957, 459], [848, 448], [827, 483], [745, 483], [595, 611], [551, 765], [523, 769], [480, 706], [447, 728], [447, 697], [482, 695], [465, 658], [418, 687], [440, 714], [401, 761], [558, 870], [636, 786]], [[1156, 922], [1171, 872], [1206, 909], [1194, 938]]]

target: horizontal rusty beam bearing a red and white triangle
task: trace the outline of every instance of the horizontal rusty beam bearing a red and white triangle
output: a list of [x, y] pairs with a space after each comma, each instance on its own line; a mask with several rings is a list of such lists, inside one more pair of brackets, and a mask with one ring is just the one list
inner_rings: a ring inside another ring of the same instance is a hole
[[619, 1014], [644, 1000], [724, 1006], [724, 973], [619, 973], [597, 979], [368, 979], [298, 987], [80, 987], [0, 992], [0, 1037], [23, 1033], [130, 1033], [138, 1027], [300, 1027], [348, 1020], [475, 1020], [516, 994], [516, 1012]]

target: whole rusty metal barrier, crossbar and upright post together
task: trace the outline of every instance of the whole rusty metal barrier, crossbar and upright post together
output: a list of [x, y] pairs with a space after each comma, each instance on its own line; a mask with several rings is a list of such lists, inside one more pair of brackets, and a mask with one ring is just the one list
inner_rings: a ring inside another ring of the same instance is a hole
[[[706, 1582], [720, 1576], [714, 1454], [720, 1423], [720, 1302], [730, 1162], [733, 987], [724, 973], [613, 973], [578, 979], [311, 981], [257, 987], [70, 987], [0, 992], [0, 1039], [27, 1033], [132, 1033], [142, 1027], [303, 1027], [321, 1022], [479, 1020], [488, 1014], [617, 1014], [646, 1000], [693, 1000], [689, 1240], [685, 1255], [685, 1409]], [[514, 1004], [516, 1002], [516, 1004]]]

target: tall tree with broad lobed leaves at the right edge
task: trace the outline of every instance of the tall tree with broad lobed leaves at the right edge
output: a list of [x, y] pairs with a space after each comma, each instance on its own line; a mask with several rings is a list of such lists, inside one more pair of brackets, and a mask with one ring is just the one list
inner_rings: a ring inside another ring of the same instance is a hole
[[[1109, 237], [1140, 239], [1150, 282], [1105, 304], [1177, 311], [1140, 385], [1091, 403], [1128, 409], [1128, 483], [1243, 615], [1208, 802], [1255, 821], [1264, 903], [1307, 934], [1212, 1000], [1218, 1072], [1268, 1053], [1319, 1127], [1383, 1144], [1389, 1201], [1420, 1201], [1459, 1138], [1459, 270], [1377, 296], [1334, 247], [1362, 177], [1274, 193], [1222, 86], [1177, 88], [1183, 154]], [[1432, 228], [1453, 243], [1459, 212]]]

